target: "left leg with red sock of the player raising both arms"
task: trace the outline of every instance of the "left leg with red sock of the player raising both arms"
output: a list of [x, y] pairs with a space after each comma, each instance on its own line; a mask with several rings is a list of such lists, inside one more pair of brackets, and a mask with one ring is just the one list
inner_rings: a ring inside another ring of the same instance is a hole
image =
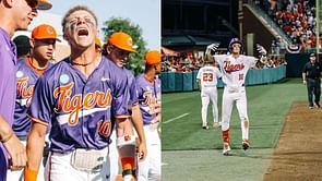
[[230, 150], [230, 138], [229, 138], [229, 123], [234, 106], [234, 94], [229, 93], [227, 88], [224, 89], [223, 94], [223, 106], [222, 106], [222, 132], [224, 149], [223, 154], [227, 155]]

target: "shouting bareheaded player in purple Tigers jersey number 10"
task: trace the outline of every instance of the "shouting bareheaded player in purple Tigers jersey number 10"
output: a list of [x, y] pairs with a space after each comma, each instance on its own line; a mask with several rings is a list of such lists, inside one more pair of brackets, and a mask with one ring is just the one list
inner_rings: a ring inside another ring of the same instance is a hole
[[[95, 51], [97, 17], [87, 7], [70, 9], [62, 27], [71, 55], [36, 83], [24, 177], [36, 180], [50, 124], [46, 180], [109, 180], [108, 145], [115, 124], [124, 134], [123, 144], [133, 141], [119, 124], [130, 116], [127, 77]], [[123, 148], [120, 152], [127, 152]]]

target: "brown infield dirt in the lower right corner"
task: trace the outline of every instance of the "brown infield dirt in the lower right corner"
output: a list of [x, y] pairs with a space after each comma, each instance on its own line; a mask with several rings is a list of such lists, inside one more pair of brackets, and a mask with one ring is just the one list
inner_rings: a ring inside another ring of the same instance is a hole
[[296, 101], [286, 116], [264, 181], [322, 180], [322, 108]]

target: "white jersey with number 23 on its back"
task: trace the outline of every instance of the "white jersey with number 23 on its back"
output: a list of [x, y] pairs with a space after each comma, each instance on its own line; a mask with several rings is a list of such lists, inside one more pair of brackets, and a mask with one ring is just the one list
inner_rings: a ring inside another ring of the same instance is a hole
[[201, 89], [217, 87], [217, 79], [222, 74], [218, 68], [213, 65], [205, 65], [198, 71], [196, 79], [200, 80]]

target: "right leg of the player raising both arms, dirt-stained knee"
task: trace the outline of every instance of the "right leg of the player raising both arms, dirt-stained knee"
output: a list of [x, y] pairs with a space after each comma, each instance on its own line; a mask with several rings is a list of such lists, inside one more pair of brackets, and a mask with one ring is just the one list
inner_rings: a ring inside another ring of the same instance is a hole
[[247, 97], [246, 92], [239, 94], [239, 98], [236, 100], [236, 107], [239, 113], [241, 125], [242, 148], [246, 150], [249, 147], [249, 118], [247, 113]]

